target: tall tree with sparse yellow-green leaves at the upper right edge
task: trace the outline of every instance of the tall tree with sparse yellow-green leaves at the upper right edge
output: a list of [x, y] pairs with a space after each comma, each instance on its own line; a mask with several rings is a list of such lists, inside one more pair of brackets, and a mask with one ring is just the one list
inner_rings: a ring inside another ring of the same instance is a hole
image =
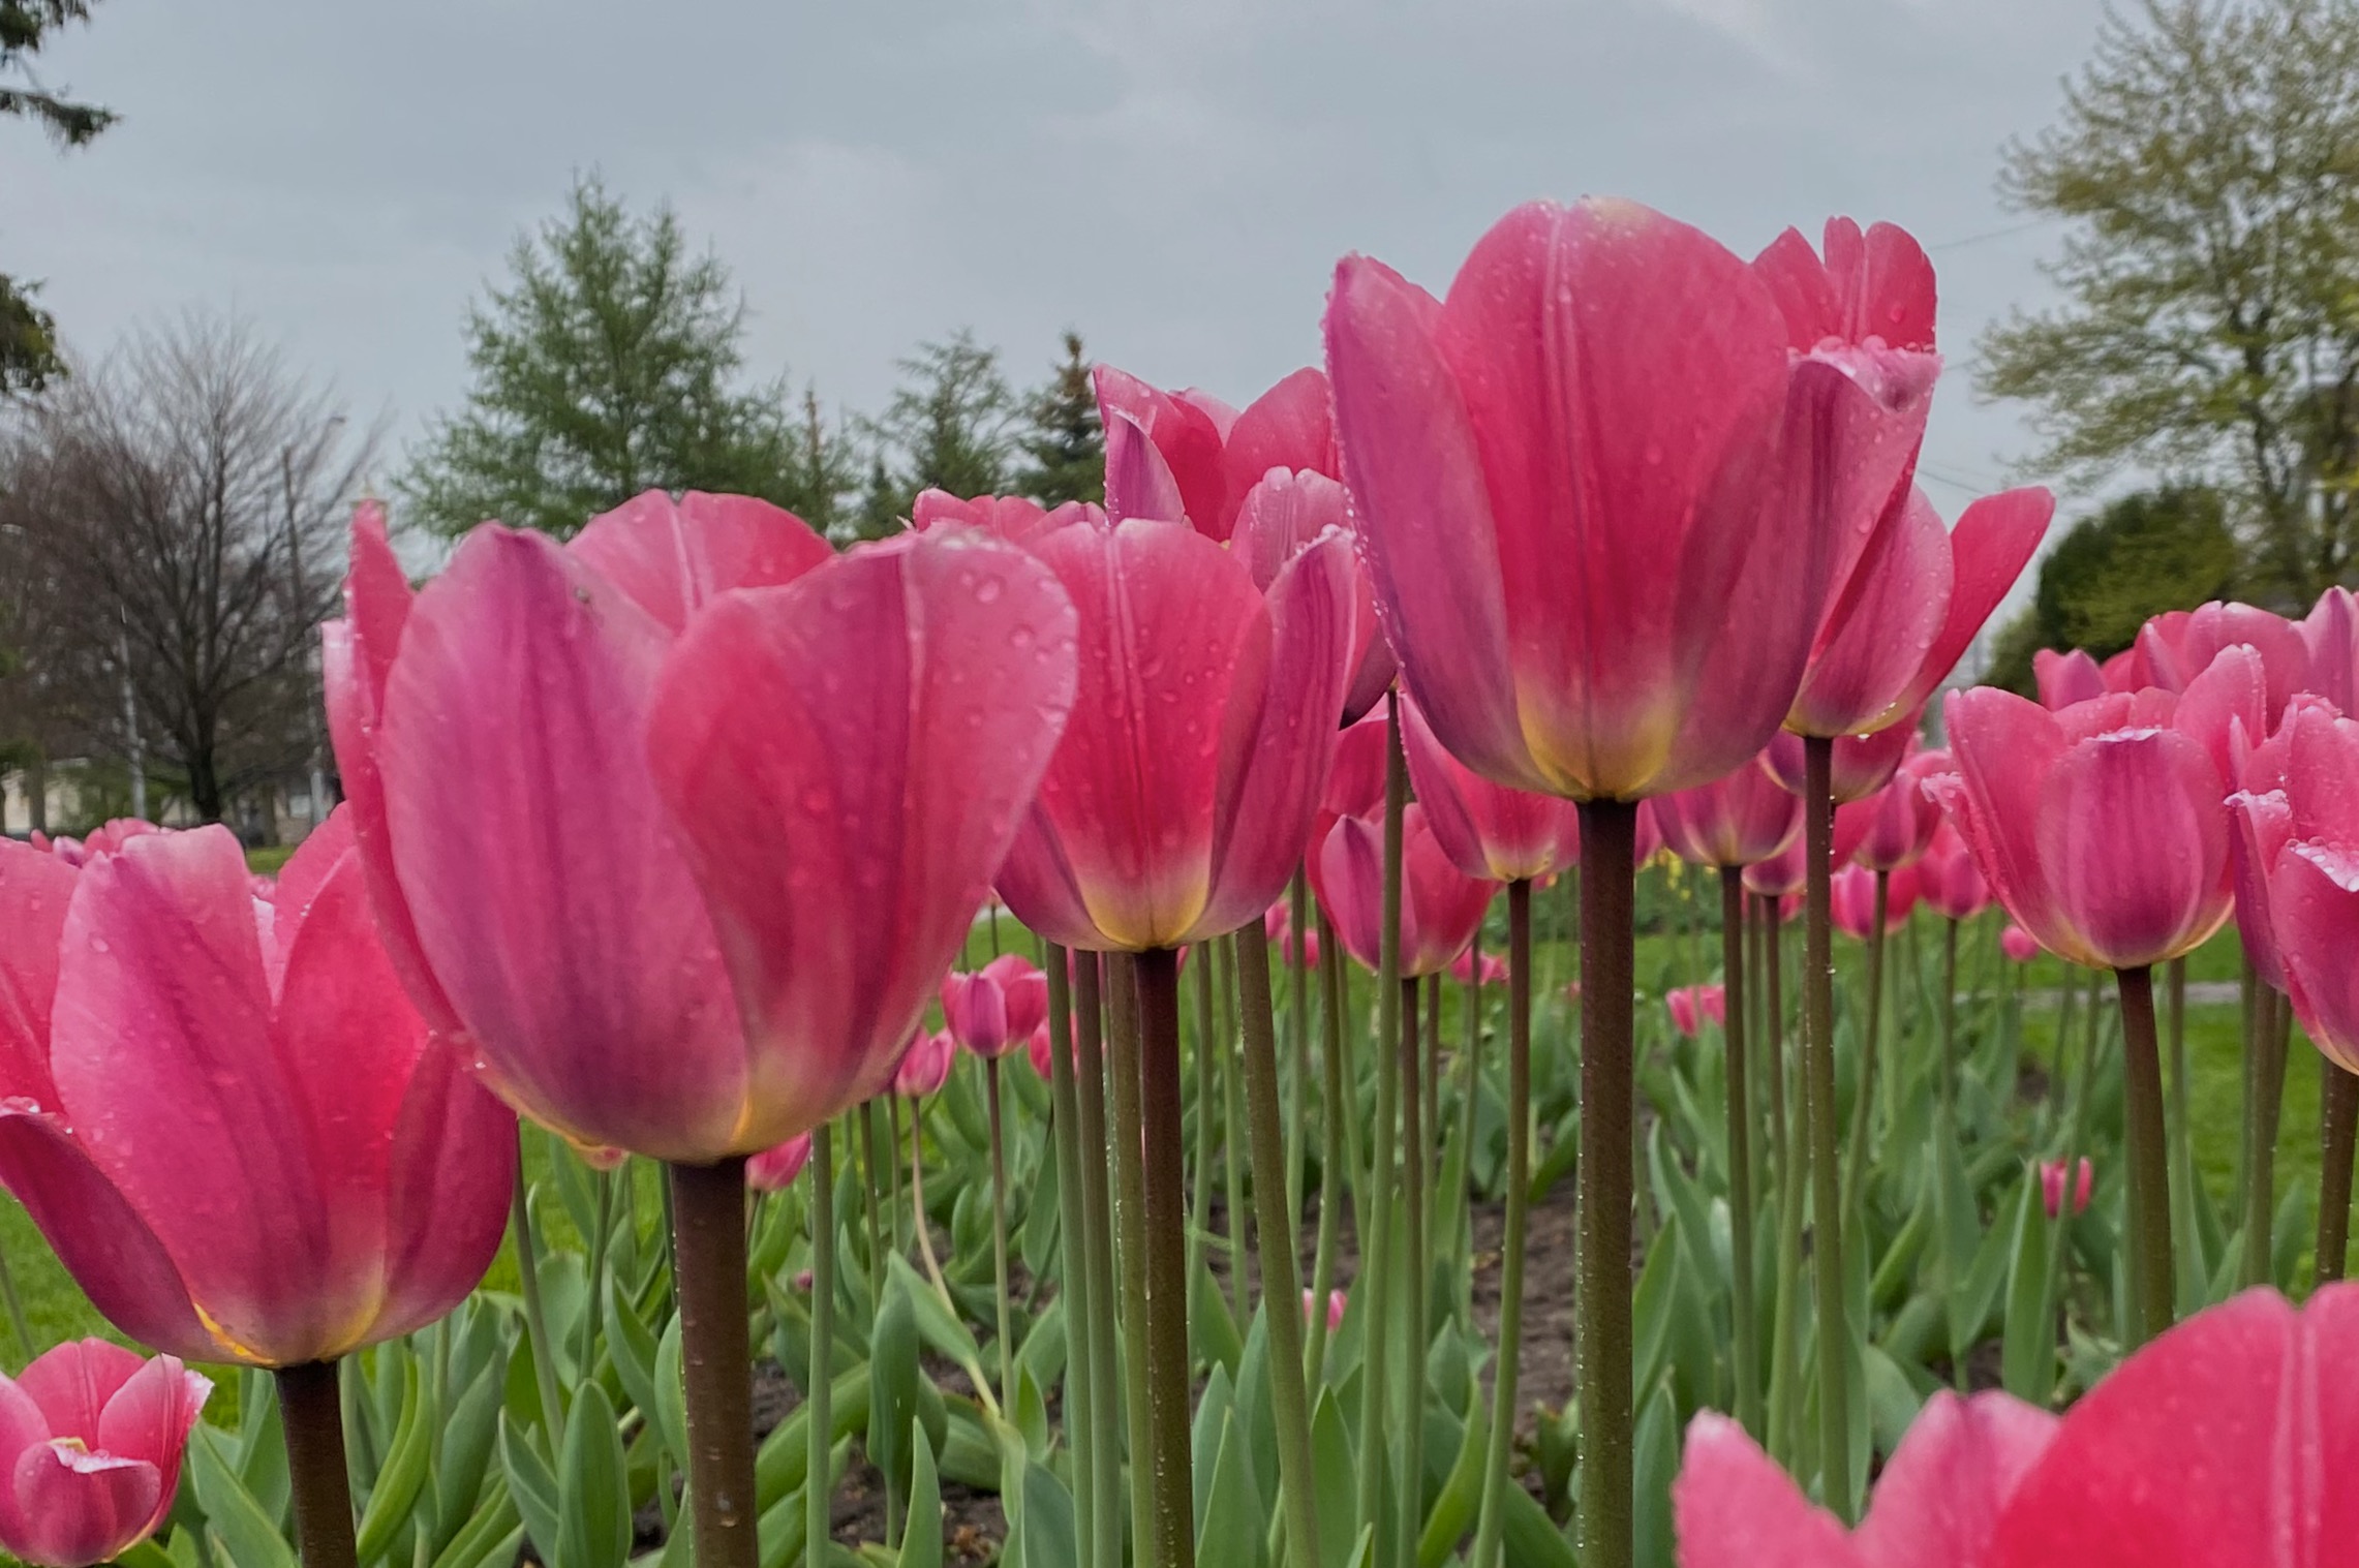
[[2352, 571], [2359, 500], [2359, 0], [2109, 14], [2000, 196], [2069, 224], [2057, 309], [1982, 340], [2036, 467], [2201, 479], [2286, 606]]

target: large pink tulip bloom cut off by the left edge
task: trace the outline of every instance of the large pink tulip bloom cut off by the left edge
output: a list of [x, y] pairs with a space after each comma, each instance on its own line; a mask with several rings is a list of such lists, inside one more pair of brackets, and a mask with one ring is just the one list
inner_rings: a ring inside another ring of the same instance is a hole
[[274, 903], [224, 828], [80, 872], [0, 844], [0, 1181], [125, 1335], [330, 1361], [434, 1323], [507, 1226], [514, 1122], [434, 1042], [370, 920], [351, 811]]

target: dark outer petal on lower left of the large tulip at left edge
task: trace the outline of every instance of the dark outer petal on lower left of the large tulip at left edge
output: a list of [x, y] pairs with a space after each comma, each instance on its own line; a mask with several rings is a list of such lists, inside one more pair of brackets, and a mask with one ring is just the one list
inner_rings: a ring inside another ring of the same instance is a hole
[[26, 1207], [101, 1318], [175, 1356], [226, 1356], [163, 1243], [90, 1162], [64, 1118], [0, 1101], [0, 1186]]

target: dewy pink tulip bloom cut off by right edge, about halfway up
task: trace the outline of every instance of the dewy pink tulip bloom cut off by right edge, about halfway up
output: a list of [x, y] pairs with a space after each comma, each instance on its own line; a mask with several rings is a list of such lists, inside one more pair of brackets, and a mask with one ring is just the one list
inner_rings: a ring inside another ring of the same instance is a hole
[[2239, 924], [2260, 976], [2293, 1002], [2302, 1033], [2359, 1070], [2359, 722], [2295, 703], [2272, 740], [2274, 788], [2229, 799]]

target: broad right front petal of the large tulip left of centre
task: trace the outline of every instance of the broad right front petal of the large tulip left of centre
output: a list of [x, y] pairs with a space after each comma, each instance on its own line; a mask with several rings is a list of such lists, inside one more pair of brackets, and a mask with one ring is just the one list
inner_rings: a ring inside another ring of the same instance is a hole
[[753, 1042], [734, 1153], [885, 1087], [1057, 745], [1073, 632], [1038, 561], [948, 533], [729, 597], [672, 653], [649, 750]]

